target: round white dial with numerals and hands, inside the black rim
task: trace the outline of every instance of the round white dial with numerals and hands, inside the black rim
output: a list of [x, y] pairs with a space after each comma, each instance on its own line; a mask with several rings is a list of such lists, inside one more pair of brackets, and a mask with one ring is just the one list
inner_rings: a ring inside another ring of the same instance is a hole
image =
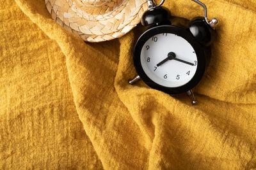
[[164, 87], [185, 85], [197, 69], [193, 47], [186, 39], [171, 33], [156, 34], [148, 39], [141, 49], [140, 59], [148, 78]]

